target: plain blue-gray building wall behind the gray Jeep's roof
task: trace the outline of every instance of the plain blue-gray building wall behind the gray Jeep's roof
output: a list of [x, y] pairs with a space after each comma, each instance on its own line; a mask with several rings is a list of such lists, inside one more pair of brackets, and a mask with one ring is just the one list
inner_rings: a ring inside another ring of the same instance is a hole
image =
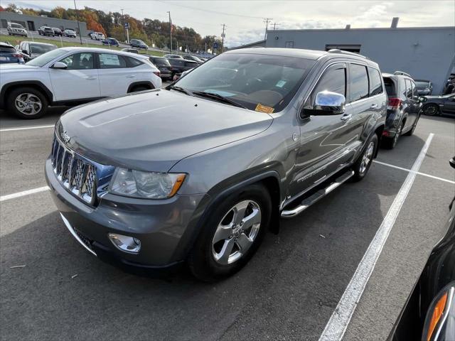
[[360, 54], [382, 72], [404, 71], [415, 79], [432, 80], [439, 94], [454, 67], [455, 27], [351, 28], [277, 30], [267, 32], [267, 48], [326, 50], [326, 45], [360, 45]]

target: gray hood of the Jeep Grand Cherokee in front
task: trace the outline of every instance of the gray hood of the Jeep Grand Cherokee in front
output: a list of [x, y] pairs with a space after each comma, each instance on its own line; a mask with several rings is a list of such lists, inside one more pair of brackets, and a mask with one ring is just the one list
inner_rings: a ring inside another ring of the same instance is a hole
[[272, 124], [262, 112], [174, 91], [155, 90], [75, 107], [56, 134], [94, 161], [168, 171], [182, 158], [259, 134]]

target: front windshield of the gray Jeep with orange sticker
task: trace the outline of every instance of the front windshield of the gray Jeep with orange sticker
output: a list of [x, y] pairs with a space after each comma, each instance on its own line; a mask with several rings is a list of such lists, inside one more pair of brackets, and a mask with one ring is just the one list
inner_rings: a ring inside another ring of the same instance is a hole
[[314, 63], [282, 55], [223, 54], [188, 73], [176, 86], [218, 94], [250, 110], [279, 112], [294, 97]]

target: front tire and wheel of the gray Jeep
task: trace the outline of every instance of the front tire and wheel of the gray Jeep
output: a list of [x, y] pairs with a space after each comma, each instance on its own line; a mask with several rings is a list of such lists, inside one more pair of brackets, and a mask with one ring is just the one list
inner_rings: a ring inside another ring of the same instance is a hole
[[[188, 256], [193, 276], [213, 282], [242, 269], [264, 239], [271, 214], [272, 201], [262, 185], [250, 185], [229, 195], [210, 212]], [[250, 217], [246, 220], [249, 224], [243, 223], [245, 216]]]

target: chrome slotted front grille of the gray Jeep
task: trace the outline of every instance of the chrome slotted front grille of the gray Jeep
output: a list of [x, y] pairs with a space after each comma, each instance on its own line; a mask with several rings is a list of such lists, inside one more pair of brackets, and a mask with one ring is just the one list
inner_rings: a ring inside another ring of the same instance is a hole
[[60, 183], [87, 204], [97, 198], [97, 168], [85, 158], [63, 146], [56, 138], [51, 154], [52, 167]]

